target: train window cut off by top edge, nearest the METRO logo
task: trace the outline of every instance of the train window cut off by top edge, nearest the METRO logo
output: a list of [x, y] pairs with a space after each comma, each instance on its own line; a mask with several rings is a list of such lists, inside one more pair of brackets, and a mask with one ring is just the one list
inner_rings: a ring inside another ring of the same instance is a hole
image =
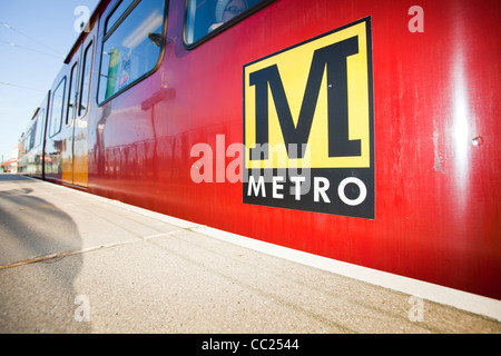
[[[266, 0], [189, 0], [185, 42], [190, 46], [257, 10]], [[224, 26], [227, 24], [227, 26]]]

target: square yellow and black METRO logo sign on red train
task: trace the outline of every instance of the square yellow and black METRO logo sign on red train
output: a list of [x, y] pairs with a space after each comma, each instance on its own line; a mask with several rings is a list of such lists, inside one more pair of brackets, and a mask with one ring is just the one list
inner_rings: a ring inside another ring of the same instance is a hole
[[373, 218], [372, 96], [370, 18], [245, 66], [244, 202]]

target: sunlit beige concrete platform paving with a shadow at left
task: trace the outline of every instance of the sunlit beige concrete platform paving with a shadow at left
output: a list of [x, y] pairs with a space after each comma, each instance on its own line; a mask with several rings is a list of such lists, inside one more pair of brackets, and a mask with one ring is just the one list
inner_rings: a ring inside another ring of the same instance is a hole
[[0, 333], [501, 333], [495, 319], [203, 231], [0, 175]]

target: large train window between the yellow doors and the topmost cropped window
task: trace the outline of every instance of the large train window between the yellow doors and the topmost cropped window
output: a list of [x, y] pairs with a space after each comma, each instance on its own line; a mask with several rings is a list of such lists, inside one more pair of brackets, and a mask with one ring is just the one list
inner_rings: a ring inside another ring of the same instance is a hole
[[[99, 76], [100, 103], [157, 68], [165, 38], [165, 0], [136, 1], [121, 22], [105, 37]], [[111, 17], [114, 14], [115, 11]]]

